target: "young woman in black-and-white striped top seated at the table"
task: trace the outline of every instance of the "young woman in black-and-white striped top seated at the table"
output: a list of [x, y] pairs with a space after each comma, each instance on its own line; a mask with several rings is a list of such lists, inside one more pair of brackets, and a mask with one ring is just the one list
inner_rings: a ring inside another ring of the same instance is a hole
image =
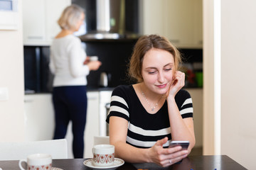
[[[129, 63], [137, 84], [114, 89], [107, 116], [115, 157], [169, 166], [191, 152], [193, 106], [190, 94], [181, 89], [185, 74], [178, 71], [180, 62], [178, 50], [166, 38], [139, 38]], [[169, 148], [171, 140], [188, 140], [190, 145], [187, 150]]]

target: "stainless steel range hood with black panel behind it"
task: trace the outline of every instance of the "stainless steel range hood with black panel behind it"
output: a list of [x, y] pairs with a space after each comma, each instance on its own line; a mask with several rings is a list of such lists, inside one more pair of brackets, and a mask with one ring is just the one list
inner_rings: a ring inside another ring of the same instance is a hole
[[138, 38], [138, 0], [77, 0], [73, 4], [86, 12], [86, 34], [81, 40]]

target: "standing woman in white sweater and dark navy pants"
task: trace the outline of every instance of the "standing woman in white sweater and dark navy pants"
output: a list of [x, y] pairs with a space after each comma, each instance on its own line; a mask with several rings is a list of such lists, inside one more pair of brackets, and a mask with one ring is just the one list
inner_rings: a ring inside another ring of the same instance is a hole
[[87, 62], [81, 40], [73, 35], [84, 21], [80, 6], [64, 9], [58, 24], [62, 29], [50, 47], [50, 71], [54, 74], [53, 106], [55, 132], [53, 139], [65, 138], [68, 123], [72, 121], [73, 154], [83, 158], [84, 131], [87, 113], [87, 79], [90, 70], [97, 70], [101, 62]]

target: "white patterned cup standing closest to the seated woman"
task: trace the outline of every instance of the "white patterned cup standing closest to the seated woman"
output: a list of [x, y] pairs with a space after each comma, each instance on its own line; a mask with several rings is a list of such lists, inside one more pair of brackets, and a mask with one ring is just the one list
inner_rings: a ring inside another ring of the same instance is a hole
[[94, 166], [112, 166], [114, 164], [114, 145], [95, 145], [92, 147]]

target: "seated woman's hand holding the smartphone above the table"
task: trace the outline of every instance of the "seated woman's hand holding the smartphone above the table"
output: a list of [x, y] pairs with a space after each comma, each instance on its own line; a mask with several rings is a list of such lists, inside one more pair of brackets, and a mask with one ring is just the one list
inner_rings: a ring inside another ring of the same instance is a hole
[[149, 148], [150, 162], [165, 167], [175, 164], [188, 156], [188, 150], [182, 150], [181, 146], [164, 148], [163, 145], [167, 141], [168, 138], [164, 137], [164, 139], [158, 140], [153, 147]]

